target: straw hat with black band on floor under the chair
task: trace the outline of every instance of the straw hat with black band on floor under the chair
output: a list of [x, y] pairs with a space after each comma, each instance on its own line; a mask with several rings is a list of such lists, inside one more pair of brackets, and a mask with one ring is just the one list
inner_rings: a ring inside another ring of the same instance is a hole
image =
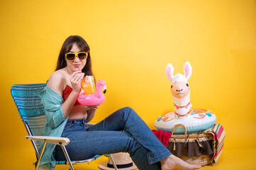
[[[133, 163], [133, 160], [130, 159], [130, 155], [128, 153], [119, 152], [116, 154], [111, 154], [113, 157], [113, 161], [116, 163], [118, 169], [128, 170], [128, 169], [137, 169], [137, 166]], [[111, 162], [111, 158], [108, 157], [108, 161], [101, 162], [99, 164], [99, 169], [113, 170], [113, 163]]]

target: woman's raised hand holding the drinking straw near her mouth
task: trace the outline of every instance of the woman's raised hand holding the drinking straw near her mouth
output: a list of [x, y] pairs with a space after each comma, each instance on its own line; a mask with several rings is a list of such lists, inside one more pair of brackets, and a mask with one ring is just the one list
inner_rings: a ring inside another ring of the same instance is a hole
[[84, 73], [82, 73], [81, 71], [77, 71], [77, 72], [73, 72], [73, 74], [71, 75], [69, 81], [72, 85], [72, 91], [74, 91], [75, 93], [79, 94], [81, 91], [81, 81], [84, 78]]

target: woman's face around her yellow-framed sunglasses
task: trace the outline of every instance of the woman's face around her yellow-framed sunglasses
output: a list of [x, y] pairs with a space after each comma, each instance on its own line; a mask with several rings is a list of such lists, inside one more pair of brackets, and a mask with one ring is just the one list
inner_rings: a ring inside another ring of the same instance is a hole
[[[79, 49], [79, 47], [77, 47], [77, 43], [74, 43], [69, 52], [81, 52], [81, 50]], [[66, 60], [66, 62], [67, 62], [67, 69], [69, 69], [69, 71], [71, 72], [82, 70], [85, 64], [87, 64], [87, 60], [79, 60], [78, 57], [76, 57], [73, 61]]]

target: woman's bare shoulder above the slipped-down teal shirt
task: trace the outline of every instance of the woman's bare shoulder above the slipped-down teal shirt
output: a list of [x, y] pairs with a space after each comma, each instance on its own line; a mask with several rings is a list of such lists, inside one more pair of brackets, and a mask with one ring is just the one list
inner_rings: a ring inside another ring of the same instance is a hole
[[48, 80], [48, 86], [62, 96], [62, 91], [65, 86], [65, 74], [61, 70], [52, 72]]

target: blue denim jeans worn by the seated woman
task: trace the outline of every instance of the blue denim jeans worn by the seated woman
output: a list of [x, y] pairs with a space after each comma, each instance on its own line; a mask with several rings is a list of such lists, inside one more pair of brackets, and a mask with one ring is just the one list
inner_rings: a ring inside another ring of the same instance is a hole
[[[87, 129], [87, 120], [68, 120], [62, 137], [71, 160], [83, 160], [96, 154], [128, 152], [138, 169], [161, 169], [160, 160], [171, 152], [162, 145], [148, 125], [132, 108], [121, 108]], [[62, 148], [55, 147], [55, 159], [66, 160]]]

